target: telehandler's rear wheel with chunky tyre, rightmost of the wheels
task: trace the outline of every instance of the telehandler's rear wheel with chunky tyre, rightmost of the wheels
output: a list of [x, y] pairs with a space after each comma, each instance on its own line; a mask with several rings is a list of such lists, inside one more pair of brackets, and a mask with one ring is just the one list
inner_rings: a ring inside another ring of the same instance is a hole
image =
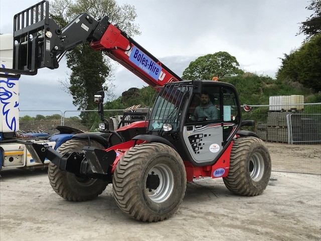
[[271, 158], [264, 142], [256, 137], [238, 138], [234, 141], [230, 170], [223, 177], [225, 186], [242, 196], [261, 194], [271, 176]]

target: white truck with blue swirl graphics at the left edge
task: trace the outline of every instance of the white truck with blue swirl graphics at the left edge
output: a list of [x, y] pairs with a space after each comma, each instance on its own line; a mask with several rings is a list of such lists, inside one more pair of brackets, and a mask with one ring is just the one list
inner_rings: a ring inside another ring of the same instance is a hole
[[[13, 35], [0, 35], [0, 65], [13, 67]], [[44, 164], [36, 163], [24, 144], [15, 138], [19, 131], [19, 79], [15, 76], [0, 77], [0, 170], [8, 168], [39, 168]], [[46, 143], [52, 148], [55, 142], [33, 139], [34, 143]], [[45, 161], [48, 164], [49, 160]]]

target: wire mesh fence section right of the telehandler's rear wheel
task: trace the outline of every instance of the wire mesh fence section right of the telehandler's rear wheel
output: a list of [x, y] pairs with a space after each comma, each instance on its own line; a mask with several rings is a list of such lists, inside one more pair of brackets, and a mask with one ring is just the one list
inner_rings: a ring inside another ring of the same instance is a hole
[[273, 171], [321, 174], [321, 103], [251, 107], [242, 116], [256, 125], [244, 129], [266, 142]]

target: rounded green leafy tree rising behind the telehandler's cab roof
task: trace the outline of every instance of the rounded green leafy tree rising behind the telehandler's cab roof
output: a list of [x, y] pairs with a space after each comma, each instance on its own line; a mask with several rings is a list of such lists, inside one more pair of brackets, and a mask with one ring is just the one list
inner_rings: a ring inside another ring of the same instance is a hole
[[212, 80], [214, 76], [219, 78], [243, 73], [238, 68], [236, 58], [227, 52], [207, 54], [192, 61], [183, 72], [183, 79]]

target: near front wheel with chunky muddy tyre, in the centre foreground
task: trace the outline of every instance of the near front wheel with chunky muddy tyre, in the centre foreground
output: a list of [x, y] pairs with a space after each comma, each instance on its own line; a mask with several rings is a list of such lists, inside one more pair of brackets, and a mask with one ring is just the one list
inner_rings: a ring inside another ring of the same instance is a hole
[[182, 158], [161, 143], [137, 145], [117, 163], [113, 192], [128, 216], [156, 222], [170, 217], [183, 201], [186, 171]]

